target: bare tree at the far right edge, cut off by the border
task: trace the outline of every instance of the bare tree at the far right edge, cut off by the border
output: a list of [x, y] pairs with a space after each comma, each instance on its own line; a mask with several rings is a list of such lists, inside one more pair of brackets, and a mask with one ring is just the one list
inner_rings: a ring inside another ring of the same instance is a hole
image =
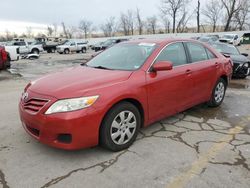
[[248, 0], [243, 0], [241, 8], [238, 12], [235, 13], [234, 18], [239, 30], [243, 30], [249, 19], [250, 12], [250, 2]]

